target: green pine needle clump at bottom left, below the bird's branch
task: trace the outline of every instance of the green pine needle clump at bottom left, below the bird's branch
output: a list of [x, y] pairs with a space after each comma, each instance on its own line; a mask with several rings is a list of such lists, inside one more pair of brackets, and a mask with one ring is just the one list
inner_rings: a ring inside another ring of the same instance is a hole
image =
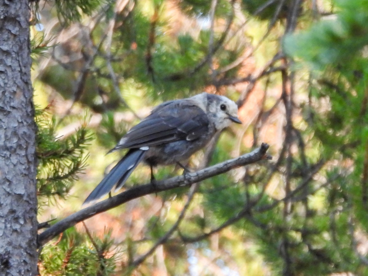
[[110, 234], [99, 239], [78, 233], [74, 227], [66, 230], [56, 243], [42, 248], [41, 275], [112, 275], [117, 256]]

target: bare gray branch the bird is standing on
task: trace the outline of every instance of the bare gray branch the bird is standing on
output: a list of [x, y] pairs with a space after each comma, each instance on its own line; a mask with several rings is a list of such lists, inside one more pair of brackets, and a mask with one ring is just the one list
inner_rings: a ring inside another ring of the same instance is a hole
[[154, 194], [160, 191], [171, 190], [177, 187], [190, 186], [199, 181], [205, 180], [209, 177], [213, 177], [222, 173], [226, 173], [231, 169], [245, 166], [247, 164], [258, 162], [262, 159], [270, 159], [269, 155], [266, 155], [269, 145], [262, 143], [262, 145], [254, 151], [241, 155], [238, 158], [230, 159], [214, 166], [199, 170], [193, 173], [187, 173], [182, 176], [171, 177], [169, 179], [157, 181], [155, 185], [145, 184], [131, 188], [124, 191], [112, 198], [105, 199], [92, 206], [82, 209], [65, 219], [55, 223], [49, 229], [46, 229], [38, 235], [38, 247], [44, 245], [52, 238], [56, 237], [69, 227], [75, 225], [82, 220], [88, 219], [98, 213], [105, 212], [120, 204], [128, 202], [132, 199], [143, 197], [144, 195]]

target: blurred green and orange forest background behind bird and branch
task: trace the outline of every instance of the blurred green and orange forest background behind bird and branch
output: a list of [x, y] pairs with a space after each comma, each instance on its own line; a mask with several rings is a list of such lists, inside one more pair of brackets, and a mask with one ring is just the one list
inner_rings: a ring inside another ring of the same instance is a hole
[[[39, 222], [80, 210], [166, 100], [238, 104], [192, 170], [262, 142], [273, 157], [78, 223], [40, 274], [368, 275], [367, 22], [366, 0], [33, 2]], [[139, 165], [123, 190], [149, 180]]]

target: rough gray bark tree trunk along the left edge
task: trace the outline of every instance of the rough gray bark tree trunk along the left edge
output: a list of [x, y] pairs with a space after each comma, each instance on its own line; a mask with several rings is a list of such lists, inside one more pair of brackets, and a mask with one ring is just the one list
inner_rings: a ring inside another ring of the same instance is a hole
[[0, 275], [37, 275], [36, 155], [27, 0], [0, 0]]

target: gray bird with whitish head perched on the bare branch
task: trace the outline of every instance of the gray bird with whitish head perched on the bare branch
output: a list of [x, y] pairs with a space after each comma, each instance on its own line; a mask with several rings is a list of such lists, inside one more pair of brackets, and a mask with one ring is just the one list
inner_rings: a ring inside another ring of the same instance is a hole
[[108, 194], [114, 186], [115, 190], [121, 188], [142, 160], [151, 166], [153, 181], [152, 167], [180, 164], [188, 159], [231, 122], [241, 124], [237, 113], [238, 107], [232, 100], [208, 93], [162, 103], [109, 151], [129, 149], [84, 204]]

